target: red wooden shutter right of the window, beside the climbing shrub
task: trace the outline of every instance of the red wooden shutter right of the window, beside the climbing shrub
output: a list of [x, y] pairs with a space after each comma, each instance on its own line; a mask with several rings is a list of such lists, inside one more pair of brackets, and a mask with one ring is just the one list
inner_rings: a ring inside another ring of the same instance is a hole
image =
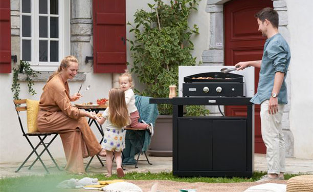
[[93, 0], [94, 73], [126, 69], [126, 0]]

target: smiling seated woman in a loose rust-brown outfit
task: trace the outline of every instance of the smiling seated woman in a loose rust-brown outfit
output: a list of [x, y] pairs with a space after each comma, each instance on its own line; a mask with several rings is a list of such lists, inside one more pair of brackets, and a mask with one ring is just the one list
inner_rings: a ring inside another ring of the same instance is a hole
[[85, 118], [95, 119], [94, 114], [79, 110], [71, 104], [71, 101], [81, 97], [77, 93], [70, 96], [68, 85], [68, 79], [73, 79], [77, 71], [78, 60], [74, 56], [67, 56], [49, 77], [40, 97], [37, 126], [39, 132], [60, 134], [67, 172], [85, 173], [83, 158], [97, 154], [105, 156], [105, 150], [102, 150]]

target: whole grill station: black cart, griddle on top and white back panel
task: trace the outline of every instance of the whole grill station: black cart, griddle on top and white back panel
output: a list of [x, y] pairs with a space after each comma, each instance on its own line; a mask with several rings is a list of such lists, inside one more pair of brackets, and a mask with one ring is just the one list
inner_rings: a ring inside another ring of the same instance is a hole
[[[250, 99], [254, 94], [254, 68], [228, 74], [218, 72], [221, 68], [225, 66], [180, 66], [179, 96], [150, 99], [150, 103], [173, 106], [172, 167], [175, 176], [253, 175], [254, 105]], [[228, 116], [221, 110], [222, 116], [188, 116], [184, 113], [187, 105], [236, 107]], [[247, 113], [243, 112], [245, 110]]]

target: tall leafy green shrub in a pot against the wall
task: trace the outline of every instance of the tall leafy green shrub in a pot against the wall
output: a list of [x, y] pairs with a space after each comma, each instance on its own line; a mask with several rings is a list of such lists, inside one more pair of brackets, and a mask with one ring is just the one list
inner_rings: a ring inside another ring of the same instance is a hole
[[[128, 40], [131, 44], [133, 63], [130, 72], [135, 73], [139, 81], [145, 84], [141, 95], [166, 98], [170, 85], [178, 85], [178, 66], [195, 66], [196, 58], [191, 55], [194, 46], [190, 40], [193, 34], [198, 34], [196, 25], [188, 26], [188, 17], [192, 10], [197, 10], [199, 0], [178, 0], [164, 4], [161, 0], [154, 0], [155, 4], [148, 6], [151, 11], [137, 10], [135, 24], [129, 32], [134, 33], [135, 40]], [[128, 63], [128, 65], [130, 65]], [[161, 143], [169, 143], [172, 147], [172, 121], [166, 120], [163, 115], [172, 113], [171, 104], [159, 104], [159, 116], [156, 122], [155, 134], [151, 140], [162, 137]], [[187, 106], [187, 115], [207, 115], [209, 111], [204, 106]], [[158, 121], [169, 123], [164, 133]], [[170, 141], [165, 141], [164, 137]], [[162, 150], [161, 150], [162, 151]]]

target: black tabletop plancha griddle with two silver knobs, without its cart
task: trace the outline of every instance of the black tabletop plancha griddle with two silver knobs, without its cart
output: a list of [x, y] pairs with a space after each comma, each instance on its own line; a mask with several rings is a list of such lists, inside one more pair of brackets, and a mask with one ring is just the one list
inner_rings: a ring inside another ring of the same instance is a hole
[[244, 97], [243, 76], [234, 73], [199, 73], [184, 77], [183, 97]]

